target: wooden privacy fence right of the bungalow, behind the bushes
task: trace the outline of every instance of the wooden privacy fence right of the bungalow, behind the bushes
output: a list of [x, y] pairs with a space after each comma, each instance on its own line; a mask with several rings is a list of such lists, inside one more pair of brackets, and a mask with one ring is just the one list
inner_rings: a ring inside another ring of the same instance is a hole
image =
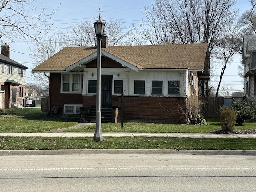
[[224, 97], [202, 97], [204, 102], [204, 117], [219, 118], [220, 106], [224, 105]]

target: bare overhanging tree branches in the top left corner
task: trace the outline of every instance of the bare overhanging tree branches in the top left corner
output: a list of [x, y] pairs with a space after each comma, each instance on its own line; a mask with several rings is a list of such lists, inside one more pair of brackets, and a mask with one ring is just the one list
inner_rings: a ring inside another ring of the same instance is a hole
[[41, 12], [33, 6], [35, 0], [0, 0], [0, 40], [14, 41], [15, 38], [25, 40], [42, 38], [47, 34], [51, 24], [48, 18], [54, 13], [46, 14], [46, 8]]

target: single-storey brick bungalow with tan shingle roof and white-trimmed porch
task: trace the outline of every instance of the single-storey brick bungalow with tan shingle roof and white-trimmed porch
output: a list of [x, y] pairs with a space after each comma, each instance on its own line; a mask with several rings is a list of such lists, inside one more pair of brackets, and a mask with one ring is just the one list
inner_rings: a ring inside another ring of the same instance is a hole
[[[101, 106], [124, 121], [186, 122], [198, 100], [198, 80], [209, 80], [208, 44], [108, 46], [102, 38]], [[66, 47], [32, 72], [49, 72], [49, 111], [79, 116], [96, 106], [97, 49]], [[183, 110], [183, 112], [182, 112]], [[113, 121], [113, 120], [112, 120]]]

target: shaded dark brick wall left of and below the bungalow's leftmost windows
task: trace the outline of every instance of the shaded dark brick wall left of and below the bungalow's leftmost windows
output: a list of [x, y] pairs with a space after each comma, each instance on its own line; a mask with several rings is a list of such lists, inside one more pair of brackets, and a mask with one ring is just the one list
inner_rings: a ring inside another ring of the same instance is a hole
[[58, 107], [59, 114], [63, 114], [64, 104], [82, 104], [82, 93], [63, 93], [60, 94], [61, 74], [50, 73], [50, 110]]

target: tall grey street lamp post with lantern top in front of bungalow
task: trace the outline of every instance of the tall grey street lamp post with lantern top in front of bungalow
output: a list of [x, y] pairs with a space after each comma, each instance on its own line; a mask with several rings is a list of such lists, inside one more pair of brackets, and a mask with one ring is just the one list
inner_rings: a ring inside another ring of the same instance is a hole
[[101, 38], [104, 32], [105, 23], [99, 19], [94, 23], [95, 34], [97, 36], [97, 96], [96, 96], [96, 128], [93, 136], [94, 141], [102, 141], [101, 132]]

